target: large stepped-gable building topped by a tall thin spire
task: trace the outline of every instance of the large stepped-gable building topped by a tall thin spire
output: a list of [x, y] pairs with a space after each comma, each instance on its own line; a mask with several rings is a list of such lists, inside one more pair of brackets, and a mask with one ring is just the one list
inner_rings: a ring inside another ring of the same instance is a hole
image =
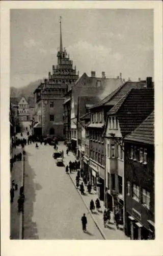
[[48, 79], [44, 79], [35, 90], [35, 123], [34, 133], [39, 136], [52, 136], [64, 139], [64, 95], [68, 85], [78, 79], [76, 67], [67, 55], [62, 45], [62, 27], [60, 17], [60, 47], [58, 50], [58, 65], [52, 66], [52, 74], [48, 72]]

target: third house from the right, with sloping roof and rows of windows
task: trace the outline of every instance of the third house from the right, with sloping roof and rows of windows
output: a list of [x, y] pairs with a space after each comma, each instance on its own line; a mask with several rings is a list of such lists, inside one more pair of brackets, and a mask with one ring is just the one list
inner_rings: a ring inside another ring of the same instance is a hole
[[110, 89], [108, 95], [90, 108], [91, 123], [88, 126], [90, 137], [90, 180], [94, 189], [98, 191], [100, 199], [104, 200], [105, 206], [108, 200], [105, 193], [107, 187], [105, 186], [105, 146], [103, 133], [107, 112], [130, 92], [132, 88], [145, 88], [147, 84], [146, 81], [127, 81], [119, 87], [115, 87], [115, 80], [113, 80], [113, 83], [110, 80], [109, 83], [110, 86], [107, 87], [107, 92]]

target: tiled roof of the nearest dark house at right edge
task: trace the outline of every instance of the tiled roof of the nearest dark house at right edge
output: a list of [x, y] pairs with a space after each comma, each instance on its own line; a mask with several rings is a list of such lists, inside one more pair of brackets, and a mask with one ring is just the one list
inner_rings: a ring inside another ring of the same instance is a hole
[[154, 145], [154, 111], [125, 140]]

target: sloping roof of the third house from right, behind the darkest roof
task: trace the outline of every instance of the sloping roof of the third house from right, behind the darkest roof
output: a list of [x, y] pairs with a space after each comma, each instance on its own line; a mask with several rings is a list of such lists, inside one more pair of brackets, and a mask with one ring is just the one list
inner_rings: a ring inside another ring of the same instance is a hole
[[116, 90], [114, 90], [112, 93], [108, 94], [104, 99], [102, 99], [100, 102], [95, 104], [93, 108], [97, 108], [98, 106], [102, 105], [115, 105], [119, 102], [119, 100], [124, 97], [131, 89], [133, 88], [140, 88], [143, 89], [146, 87], [146, 81], [140, 81], [140, 82], [132, 82], [127, 81], [123, 83], [121, 86], [119, 86]]

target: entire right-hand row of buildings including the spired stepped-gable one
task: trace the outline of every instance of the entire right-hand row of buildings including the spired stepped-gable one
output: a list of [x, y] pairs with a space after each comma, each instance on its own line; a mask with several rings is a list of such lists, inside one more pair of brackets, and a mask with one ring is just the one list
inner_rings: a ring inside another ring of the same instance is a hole
[[154, 238], [154, 84], [84, 73], [62, 46], [35, 90], [34, 133], [71, 144], [106, 208], [131, 239]]

